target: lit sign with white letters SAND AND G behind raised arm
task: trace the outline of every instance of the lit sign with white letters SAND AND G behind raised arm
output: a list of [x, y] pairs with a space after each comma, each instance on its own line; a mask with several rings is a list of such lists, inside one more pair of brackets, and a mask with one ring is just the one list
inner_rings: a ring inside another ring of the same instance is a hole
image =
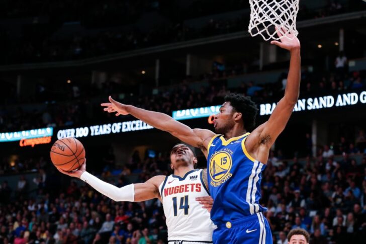
[[[366, 91], [299, 99], [295, 105], [294, 112], [346, 107], [357, 104], [366, 104]], [[260, 104], [259, 115], [269, 115], [273, 112], [274, 108], [276, 108], [276, 103]]]

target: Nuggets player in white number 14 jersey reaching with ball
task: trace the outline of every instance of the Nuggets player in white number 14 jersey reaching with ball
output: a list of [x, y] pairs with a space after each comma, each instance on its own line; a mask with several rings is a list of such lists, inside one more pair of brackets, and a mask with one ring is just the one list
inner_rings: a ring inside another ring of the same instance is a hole
[[206, 169], [195, 170], [197, 158], [184, 144], [175, 145], [170, 152], [170, 168], [173, 175], [155, 176], [145, 183], [130, 184], [118, 188], [86, 172], [86, 163], [74, 172], [61, 173], [79, 178], [114, 201], [141, 202], [158, 198], [164, 208], [168, 243], [212, 243], [215, 225], [210, 213], [200, 201], [210, 202], [207, 190]]

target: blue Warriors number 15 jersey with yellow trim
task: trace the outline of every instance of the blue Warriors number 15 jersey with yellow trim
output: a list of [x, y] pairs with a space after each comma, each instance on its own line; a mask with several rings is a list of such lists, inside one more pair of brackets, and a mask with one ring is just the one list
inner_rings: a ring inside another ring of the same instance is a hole
[[246, 151], [244, 142], [249, 134], [229, 140], [216, 135], [208, 145], [208, 183], [214, 199], [211, 219], [217, 225], [266, 210], [259, 205], [261, 172], [265, 165]]

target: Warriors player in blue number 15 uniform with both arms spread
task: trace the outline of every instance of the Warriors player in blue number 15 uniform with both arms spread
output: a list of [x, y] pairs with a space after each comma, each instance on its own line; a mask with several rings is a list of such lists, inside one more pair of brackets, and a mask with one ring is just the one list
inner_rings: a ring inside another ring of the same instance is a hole
[[281, 42], [271, 41], [290, 51], [290, 69], [284, 97], [268, 121], [255, 126], [256, 105], [238, 94], [229, 94], [214, 118], [217, 134], [191, 129], [162, 113], [124, 105], [109, 98], [104, 110], [131, 114], [147, 124], [167, 131], [200, 148], [207, 157], [209, 191], [214, 199], [211, 219], [218, 226], [214, 243], [272, 243], [269, 224], [259, 205], [261, 172], [274, 141], [284, 130], [297, 103], [300, 88], [300, 42], [289, 34]]

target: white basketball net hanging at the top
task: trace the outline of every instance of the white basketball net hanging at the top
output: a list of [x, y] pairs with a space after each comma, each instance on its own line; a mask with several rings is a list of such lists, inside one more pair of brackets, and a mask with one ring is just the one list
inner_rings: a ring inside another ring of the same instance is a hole
[[[298, 35], [296, 16], [299, 0], [249, 0], [251, 36], [261, 35], [264, 40], [293, 39]], [[280, 35], [277, 33], [280, 32]], [[288, 35], [291, 33], [292, 35]]]

